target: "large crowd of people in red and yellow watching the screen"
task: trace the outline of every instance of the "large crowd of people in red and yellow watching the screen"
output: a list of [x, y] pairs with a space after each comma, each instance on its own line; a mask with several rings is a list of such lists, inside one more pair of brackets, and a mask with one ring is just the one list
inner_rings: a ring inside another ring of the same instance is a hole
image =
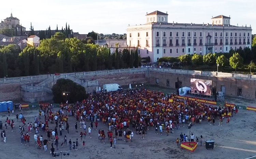
[[[145, 89], [98, 92], [89, 94], [87, 99], [75, 104], [60, 104], [58, 111], [54, 112], [53, 107], [52, 104], [41, 104], [39, 116], [34, 117], [34, 123], [28, 122], [27, 125], [22, 113], [16, 115], [17, 121], [22, 122], [19, 126], [21, 144], [30, 146], [30, 134], [33, 133], [34, 144], [38, 149], [41, 149], [43, 145], [46, 152], [48, 144], [51, 143], [52, 157], [55, 157], [55, 147], [58, 150], [61, 139], [63, 139], [61, 147], [69, 144], [69, 149], [75, 151], [78, 150], [80, 136], [83, 149], [85, 149], [86, 139], [92, 138], [92, 130], [98, 130], [99, 123], [102, 123], [108, 130], [110, 148], [115, 148], [118, 140], [132, 142], [134, 132], [139, 139], [144, 139], [150, 129], [160, 135], [166, 131], [166, 135], [169, 136], [180, 127], [185, 127], [185, 124], [191, 123], [190, 125], [193, 126], [201, 124], [202, 121], [208, 121], [209, 124], [214, 125], [217, 118], [219, 118], [219, 126], [222, 126], [225, 117], [228, 117], [227, 123], [229, 124], [229, 116], [238, 112], [236, 107], [221, 108]], [[70, 139], [67, 143], [70, 129], [69, 118], [72, 116], [76, 120], [72, 128], [77, 133], [77, 139], [74, 141]], [[86, 123], [89, 123], [88, 126]], [[50, 128], [50, 124], [54, 125], [54, 128], [53, 126]], [[11, 122], [7, 117], [4, 126], [5, 129], [10, 126], [13, 131], [14, 121]], [[0, 129], [2, 129], [2, 121]], [[66, 131], [65, 135], [62, 135], [63, 131]], [[44, 133], [46, 138], [43, 136]], [[1, 138], [5, 143], [5, 130], [1, 132]], [[98, 130], [98, 139], [100, 143], [105, 144], [104, 129]], [[177, 146], [186, 141], [194, 141], [194, 134], [181, 133], [180, 139], [176, 140]], [[202, 145], [202, 136], [196, 137], [196, 141]]]

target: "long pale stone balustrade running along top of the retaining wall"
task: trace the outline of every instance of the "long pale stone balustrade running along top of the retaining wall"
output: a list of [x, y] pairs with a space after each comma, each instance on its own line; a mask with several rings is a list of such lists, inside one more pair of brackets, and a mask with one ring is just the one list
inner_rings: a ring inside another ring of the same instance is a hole
[[[198, 71], [198, 70], [185, 70], [185, 69], [143, 67], [143, 68], [131, 68], [131, 69], [115, 69], [115, 70], [67, 73], [67, 74], [60, 74], [59, 76], [38, 75], [38, 76], [27, 76], [27, 77], [0, 78], [0, 84], [40, 82], [39, 84], [37, 84], [37, 86], [43, 86], [43, 85], [45, 85], [45, 83], [49, 82], [49, 81], [44, 81], [44, 80], [46, 80], [46, 79], [47, 80], [57, 80], [59, 78], [71, 79], [71, 80], [75, 81], [76, 83], [82, 84], [83, 81], [79, 78], [84, 78], [84, 77], [88, 77], [88, 76], [122, 74], [122, 73], [139, 73], [139, 72], [146, 72], [146, 71], [157, 71], [157, 72], [166, 72], [166, 73], [173, 73], [173, 74], [200, 75], [200, 76], [210, 76], [210, 77], [220, 77], [220, 78], [256, 80], [256, 75], [222, 73], [222, 72], [215, 72], [215, 71]], [[53, 79], [48, 78], [48, 77], [52, 77]]]

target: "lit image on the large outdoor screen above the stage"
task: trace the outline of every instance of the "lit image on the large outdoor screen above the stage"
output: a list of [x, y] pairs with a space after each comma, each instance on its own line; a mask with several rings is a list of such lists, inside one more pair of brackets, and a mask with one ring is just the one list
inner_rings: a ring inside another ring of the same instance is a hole
[[212, 80], [203, 80], [190, 78], [191, 93], [198, 93], [202, 95], [212, 95]]

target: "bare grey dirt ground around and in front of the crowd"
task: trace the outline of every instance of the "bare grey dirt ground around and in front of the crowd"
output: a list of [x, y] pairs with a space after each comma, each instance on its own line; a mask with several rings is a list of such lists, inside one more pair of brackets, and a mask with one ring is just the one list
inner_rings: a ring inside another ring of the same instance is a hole
[[[55, 108], [55, 111], [57, 108]], [[0, 159], [41, 159], [51, 158], [48, 145], [48, 152], [44, 152], [42, 149], [37, 149], [37, 145], [34, 145], [33, 133], [30, 133], [30, 146], [20, 144], [20, 135], [18, 126], [20, 122], [16, 121], [16, 114], [19, 111], [14, 111], [9, 118], [15, 120], [14, 131], [11, 132], [11, 127], [6, 129], [7, 143], [0, 142], [1, 155]], [[24, 110], [22, 112], [27, 119], [27, 122], [34, 121], [35, 115], [38, 115], [38, 110]], [[0, 113], [0, 120], [5, 121], [7, 113]], [[69, 150], [69, 145], [61, 147], [62, 139], [64, 135], [67, 135], [68, 141], [72, 139], [72, 142], [79, 139], [79, 147], [77, 151], [70, 152], [70, 156], [62, 156], [65, 158], [90, 158], [90, 159], [162, 159], [162, 158], [174, 158], [174, 159], [244, 159], [256, 155], [256, 112], [239, 110], [237, 115], [231, 117], [230, 124], [226, 124], [226, 119], [223, 122], [222, 127], [218, 126], [218, 121], [215, 125], [210, 125], [208, 122], [203, 121], [201, 125], [196, 124], [191, 127], [191, 132], [195, 137], [203, 136], [203, 146], [198, 146], [194, 153], [181, 149], [176, 146], [175, 140], [179, 138], [180, 133], [189, 134], [189, 129], [181, 127], [175, 129], [173, 134], [167, 136], [155, 134], [153, 128], [151, 128], [145, 136], [145, 139], [139, 139], [137, 135], [134, 135], [133, 142], [127, 143], [123, 140], [117, 140], [116, 148], [110, 148], [110, 142], [106, 140], [106, 143], [100, 143], [98, 140], [98, 130], [92, 130], [92, 138], [86, 139], [86, 149], [82, 149], [82, 141], [80, 140], [79, 133], [75, 133], [74, 124], [75, 118], [70, 117], [70, 133], [62, 131], [62, 136], [59, 136], [59, 150]], [[43, 121], [43, 120], [42, 120]], [[86, 123], [87, 127], [89, 122]], [[51, 124], [50, 128], [54, 128], [55, 124]], [[107, 132], [108, 128], [99, 123], [98, 129], [104, 129]], [[25, 131], [27, 126], [25, 127]], [[81, 129], [82, 131], [82, 129]], [[79, 131], [79, 132], [81, 132]], [[88, 132], [88, 130], [87, 130]], [[135, 132], [134, 132], [135, 134]], [[40, 132], [40, 136], [46, 137], [46, 133]], [[88, 134], [87, 134], [88, 136]], [[204, 140], [213, 139], [215, 141], [214, 149], [206, 149]], [[56, 147], [55, 147], [55, 151]], [[56, 158], [60, 158], [56, 157]]]

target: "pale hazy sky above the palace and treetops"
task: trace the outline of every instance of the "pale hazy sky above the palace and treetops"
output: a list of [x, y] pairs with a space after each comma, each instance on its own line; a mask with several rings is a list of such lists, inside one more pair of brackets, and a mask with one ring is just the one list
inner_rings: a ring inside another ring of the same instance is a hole
[[[212, 16], [230, 16], [230, 24], [256, 28], [255, 0], [1, 0], [0, 19], [13, 17], [26, 30], [65, 28], [80, 34], [95, 31], [124, 34], [128, 25], [146, 23], [146, 13], [168, 12], [168, 22], [211, 23]], [[252, 30], [256, 34], [255, 30]]]

